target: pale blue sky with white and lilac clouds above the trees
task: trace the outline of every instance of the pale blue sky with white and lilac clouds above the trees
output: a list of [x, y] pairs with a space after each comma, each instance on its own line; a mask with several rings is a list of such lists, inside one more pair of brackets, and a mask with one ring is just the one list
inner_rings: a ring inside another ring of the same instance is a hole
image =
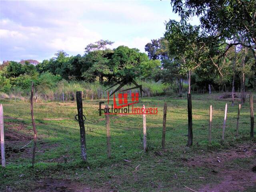
[[163, 36], [170, 19], [180, 20], [170, 0], [0, 0], [0, 62], [42, 62], [58, 50], [83, 55], [86, 45], [100, 39], [113, 41], [111, 48], [145, 52], [151, 39]]

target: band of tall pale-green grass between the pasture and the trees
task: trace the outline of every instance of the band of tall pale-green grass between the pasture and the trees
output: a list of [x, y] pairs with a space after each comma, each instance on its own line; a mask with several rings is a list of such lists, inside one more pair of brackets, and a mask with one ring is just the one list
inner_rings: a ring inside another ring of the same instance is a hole
[[[161, 95], [176, 95], [177, 85], [164, 84], [161, 82], [154, 81], [142, 81], [136, 80], [137, 84], [142, 85], [142, 96], [161, 96]], [[47, 85], [38, 85], [35, 88], [34, 98], [37, 101], [69, 101], [76, 100], [76, 91], [82, 91], [82, 96], [86, 100], [95, 99], [106, 99], [108, 92], [111, 94], [118, 88], [119, 84], [109, 88], [110, 86], [104, 86], [99, 82], [88, 83], [66, 80], [61, 80], [55, 84], [52, 88], [48, 88]], [[125, 85], [121, 90], [134, 87], [134, 84]], [[109, 89], [108, 89], [109, 88]], [[127, 91], [128, 94], [131, 92], [139, 92], [139, 88], [135, 90]], [[116, 93], [117, 96], [118, 93]], [[30, 91], [21, 90], [19, 88], [13, 88], [8, 94], [0, 93], [1, 99], [15, 99], [22, 101], [29, 101]]]

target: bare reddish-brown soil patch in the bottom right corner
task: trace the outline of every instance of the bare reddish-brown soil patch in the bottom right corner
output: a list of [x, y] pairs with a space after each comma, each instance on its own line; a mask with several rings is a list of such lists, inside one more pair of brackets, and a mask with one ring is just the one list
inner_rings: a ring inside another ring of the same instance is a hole
[[[232, 192], [232, 191], [244, 191], [246, 187], [251, 186], [256, 191], [256, 172], [252, 171], [252, 168], [256, 164], [254, 158], [253, 163], [248, 165], [248, 168], [242, 168], [235, 165], [233, 160], [245, 159], [256, 156], [256, 144], [244, 145], [232, 150], [226, 150], [222, 152], [214, 152], [206, 154], [205, 156], [198, 156], [193, 159], [189, 159], [185, 162], [192, 167], [208, 167], [211, 174], [222, 178], [222, 182], [207, 184], [201, 189], [196, 190], [198, 192]], [[232, 166], [231, 166], [232, 165]], [[231, 166], [231, 167], [230, 167]]]

